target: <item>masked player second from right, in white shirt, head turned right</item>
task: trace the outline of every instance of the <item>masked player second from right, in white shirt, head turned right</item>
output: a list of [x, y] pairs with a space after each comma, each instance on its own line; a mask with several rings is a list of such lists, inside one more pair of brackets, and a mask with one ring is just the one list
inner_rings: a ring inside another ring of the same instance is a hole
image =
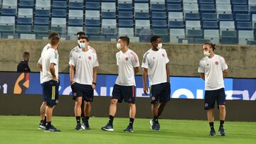
[[162, 48], [161, 37], [151, 37], [151, 49], [148, 50], [142, 61], [144, 94], [148, 94], [146, 75], [149, 75], [149, 87], [151, 96], [151, 111], [153, 119], [150, 121], [151, 130], [160, 131], [159, 116], [164, 111], [164, 106], [170, 100], [171, 87], [169, 77], [169, 58], [166, 50]]

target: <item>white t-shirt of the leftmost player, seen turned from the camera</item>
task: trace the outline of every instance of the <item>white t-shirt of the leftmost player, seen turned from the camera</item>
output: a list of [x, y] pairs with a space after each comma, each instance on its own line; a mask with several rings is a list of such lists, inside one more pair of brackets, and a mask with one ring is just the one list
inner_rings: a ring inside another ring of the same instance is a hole
[[43, 74], [42, 74], [42, 82], [48, 82], [53, 79], [52, 74], [50, 74], [50, 63], [54, 63], [55, 75], [58, 77], [58, 51], [53, 48], [49, 48], [43, 52], [41, 57]]

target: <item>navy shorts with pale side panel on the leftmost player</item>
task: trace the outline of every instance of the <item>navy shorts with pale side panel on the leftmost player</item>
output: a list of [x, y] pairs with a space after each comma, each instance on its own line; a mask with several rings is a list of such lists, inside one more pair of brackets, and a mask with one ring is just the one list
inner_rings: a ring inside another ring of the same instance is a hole
[[53, 107], [58, 104], [58, 87], [59, 84], [55, 80], [43, 82], [43, 98], [46, 98], [46, 106]]

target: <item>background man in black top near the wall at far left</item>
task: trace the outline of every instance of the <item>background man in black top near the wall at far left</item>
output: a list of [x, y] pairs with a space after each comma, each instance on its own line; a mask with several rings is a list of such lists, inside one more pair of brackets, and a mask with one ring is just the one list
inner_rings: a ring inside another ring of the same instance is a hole
[[31, 72], [30, 68], [28, 67], [29, 61], [29, 52], [23, 52], [23, 60], [19, 62], [17, 66], [17, 72]]

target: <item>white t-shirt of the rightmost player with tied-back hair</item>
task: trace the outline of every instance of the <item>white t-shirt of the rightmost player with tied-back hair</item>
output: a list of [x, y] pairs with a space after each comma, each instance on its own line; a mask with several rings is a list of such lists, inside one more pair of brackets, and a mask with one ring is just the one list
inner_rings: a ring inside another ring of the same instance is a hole
[[205, 74], [205, 90], [216, 90], [224, 88], [223, 70], [228, 65], [220, 55], [203, 57], [199, 62], [198, 72]]

